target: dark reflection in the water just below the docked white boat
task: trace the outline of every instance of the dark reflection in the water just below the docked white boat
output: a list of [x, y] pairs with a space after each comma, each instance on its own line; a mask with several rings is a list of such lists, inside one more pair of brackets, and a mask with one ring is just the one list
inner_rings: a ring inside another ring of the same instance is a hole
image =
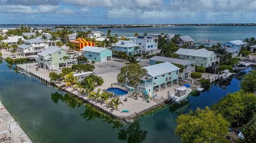
[[186, 112], [187, 108], [189, 107], [190, 107], [190, 104], [187, 101], [182, 101], [180, 104], [178, 103], [170, 104], [168, 106], [168, 111], [170, 113], [177, 112], [180, 114], [180, 113]]

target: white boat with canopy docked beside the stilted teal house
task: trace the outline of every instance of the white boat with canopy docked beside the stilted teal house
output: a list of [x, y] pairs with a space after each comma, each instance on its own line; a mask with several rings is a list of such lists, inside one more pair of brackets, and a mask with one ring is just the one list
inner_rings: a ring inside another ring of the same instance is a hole
[[179, 87], [174, 89], [175, 93], [172, 95], [169, 95], [169, 99], [172, 100], [173, 102], [181, 102], [182, 100], [186, 99], [192, 89], [187, 88], [187, 87]]

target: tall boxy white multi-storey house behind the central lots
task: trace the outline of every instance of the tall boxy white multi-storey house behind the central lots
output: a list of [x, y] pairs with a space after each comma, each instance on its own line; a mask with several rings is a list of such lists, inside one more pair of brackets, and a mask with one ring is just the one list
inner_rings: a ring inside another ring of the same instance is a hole
[[129, 37], [130, 40], [134, 41], [135, 44], [139, 45], [139, 54], [156, 54], [157, 53], [157, 38], [153, 37]]

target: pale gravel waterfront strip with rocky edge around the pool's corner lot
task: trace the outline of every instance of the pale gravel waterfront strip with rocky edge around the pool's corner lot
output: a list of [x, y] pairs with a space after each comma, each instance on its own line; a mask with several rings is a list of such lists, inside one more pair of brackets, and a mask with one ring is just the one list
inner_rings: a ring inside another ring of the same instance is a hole
[[[127, 97], [126, 102], [124, 102], [124, 99], [120, 98], [123, 105], [119, 105], [118, 110], [115, 110], [115, 108], [112, 108], [105, 103], [87, 97], [86, 94], [79, 93], [78, 89], [76, 88], [66, 87], [65, 83], [54, 82], [53, 84], [60, 89], [69, 92], [71, 95], [83, 100], [85, 103], [97, 108], [103, 113], [120, 120], [134, 119], [138, 115], [150, 111], [153, 108], [157, 108], [158, 106], [164, 105], [165, 102], [165, 98], [158, 100], [158, 102], [150, 101], [149, 103], [147, 103], [146, 100], [141, 97], [138, 97], [138, 100], [135, 100], [133, 97]], [[128, 110], [129, 112], [123, 113], [123, 110]]]

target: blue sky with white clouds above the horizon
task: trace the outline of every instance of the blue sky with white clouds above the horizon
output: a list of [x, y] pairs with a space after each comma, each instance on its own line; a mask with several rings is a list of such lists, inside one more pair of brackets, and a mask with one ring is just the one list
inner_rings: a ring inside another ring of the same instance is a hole
[[0, 0], [0, 24], [256, 23], [256, 0]]

